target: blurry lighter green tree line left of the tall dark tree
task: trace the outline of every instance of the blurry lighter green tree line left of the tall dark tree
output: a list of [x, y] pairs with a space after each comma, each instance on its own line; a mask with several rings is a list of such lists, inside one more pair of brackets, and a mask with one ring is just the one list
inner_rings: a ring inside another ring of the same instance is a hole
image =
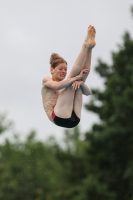
[[[0, 117], [1, 134], [10, 123]], [[76, 200], [86, 177], [85, 141], [78, 127], [64, 133], [59, 145], [54, 138], [37, 141], [35, 132], [24, 142], [19, 134], [0, 145], [0, 199]]]

